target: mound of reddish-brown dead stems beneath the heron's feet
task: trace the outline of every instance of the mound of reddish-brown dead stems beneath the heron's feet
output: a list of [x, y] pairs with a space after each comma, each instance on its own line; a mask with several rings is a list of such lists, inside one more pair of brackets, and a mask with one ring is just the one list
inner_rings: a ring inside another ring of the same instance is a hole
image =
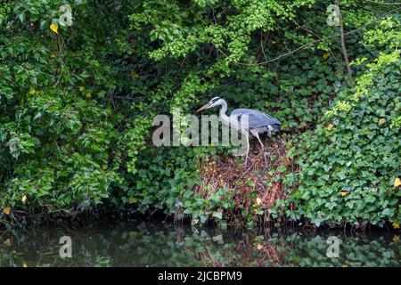
[[271, 222], [272, 213], [282, 208], [286, 199], [284, 176], [288, 172], [298, 171], [287, 154], [284, 138], [262, 139], [265, 144], [265, 159], [258, 142], [251, 142], [249, 159], [225, 156], [222, 159], [205, 162], [200, 168], [201, 185], [194, 187], [194, 192], [202, 199], [209, 199], [213, 193], [225, 188], [233, 193], [232, 208], [225, 213], [231, 221], [239, 221], [239, 217], [259, 222]]

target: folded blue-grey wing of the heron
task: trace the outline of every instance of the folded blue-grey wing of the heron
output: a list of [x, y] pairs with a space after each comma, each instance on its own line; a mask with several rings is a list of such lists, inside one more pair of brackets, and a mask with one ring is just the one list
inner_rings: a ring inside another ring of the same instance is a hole
[[274, 129], [278, 129], [282, 125], [277, 118], [271, 117], [258, 110], [235, 109], [231, 112], [230, 116], [237, 117], [239, 121], [241, 121], [241, 118], [244, 115], [248, 116], [250, 128], [263, 128], [266, 126], [272, 126]]

